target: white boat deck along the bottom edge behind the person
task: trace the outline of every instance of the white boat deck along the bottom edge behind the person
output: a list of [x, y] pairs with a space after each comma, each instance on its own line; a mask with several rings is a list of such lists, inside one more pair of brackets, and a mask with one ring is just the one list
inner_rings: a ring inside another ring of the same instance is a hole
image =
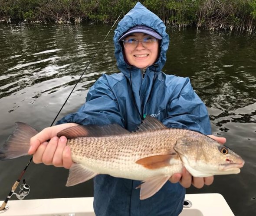
[[[185, 200], [192, 206], [180, 216], [234, 216], [221, 194], [186, 194]], [[95, 216], [92, 203], [93, 197], [10, 200], [0, 216]]]

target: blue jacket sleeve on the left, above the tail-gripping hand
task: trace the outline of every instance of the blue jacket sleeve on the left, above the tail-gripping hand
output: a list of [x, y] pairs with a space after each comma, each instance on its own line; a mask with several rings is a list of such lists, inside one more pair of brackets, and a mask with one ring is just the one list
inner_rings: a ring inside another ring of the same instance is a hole
[[111, 87], [108, 84], [107, 75], [101, 76], [89, 90], [86, 102], [77, 112], [66, 115], [57, 124], [74, 122], [77, 124], [112, 124], [123, 126], [118, 103]]

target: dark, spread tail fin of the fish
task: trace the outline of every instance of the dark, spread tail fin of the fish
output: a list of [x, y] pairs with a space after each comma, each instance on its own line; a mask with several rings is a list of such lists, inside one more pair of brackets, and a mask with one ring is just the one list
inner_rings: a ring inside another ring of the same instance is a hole
[[30, 125], [15, 122], [15, 129], [0, 148], [0, 160], [14, 159], [27, 155], [30, 148], [30, 138], [38, 133]]

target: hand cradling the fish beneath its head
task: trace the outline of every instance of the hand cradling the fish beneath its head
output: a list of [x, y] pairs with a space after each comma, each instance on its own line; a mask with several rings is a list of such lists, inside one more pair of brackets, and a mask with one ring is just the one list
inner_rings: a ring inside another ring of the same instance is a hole
[[[214, 135], [208, 135], [208, 137], [216, 140], [220, 144], [224, 144], [226, 142], [226, 138], [224, 137], [216, 137]], [[204, 178], [193, 177], [189, 172], [187, 172], [186, 168], [183, 168], [182, 173], [175, 173], [171, 176], [169, 181], [171, 181], [172, 183], [180, 182], [180, 184], [185, 188], [190, 187], [191, 184], [193, 184], [194, 187], [202, 188], [204, 184], [210, 185], [213, 183], [213, 176]]]

